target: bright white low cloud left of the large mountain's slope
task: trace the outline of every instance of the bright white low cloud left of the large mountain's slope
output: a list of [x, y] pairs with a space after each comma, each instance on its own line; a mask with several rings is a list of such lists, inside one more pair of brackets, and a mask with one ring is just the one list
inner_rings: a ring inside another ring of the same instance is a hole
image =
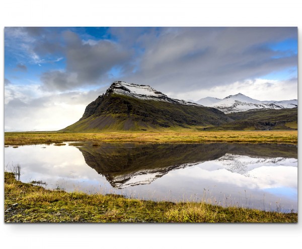
[[5, 131], [56, 131], [78, 121], [86, 106], [104, 92], [42, 91], [38, 84], [5, 86]]

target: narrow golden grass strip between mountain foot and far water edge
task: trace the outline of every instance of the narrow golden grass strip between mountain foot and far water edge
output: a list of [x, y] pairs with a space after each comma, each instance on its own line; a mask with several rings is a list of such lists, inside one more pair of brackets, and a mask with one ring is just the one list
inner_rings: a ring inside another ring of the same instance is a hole
[[5, 133], [5, 145], [62, 143], [65, 141], [152, 142], [152, 143], [279, 143], [297, 144], [297, 131], [215, 131], [215, 132], [112, 132]]

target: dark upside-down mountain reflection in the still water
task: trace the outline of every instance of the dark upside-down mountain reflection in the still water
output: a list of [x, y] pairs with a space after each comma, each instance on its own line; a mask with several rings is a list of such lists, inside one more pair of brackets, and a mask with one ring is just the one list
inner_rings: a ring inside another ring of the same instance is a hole
[[92, 143], [86, 143], [78, 148], [86, 163], [118, 189], [150, 183], [173, 169], [215, 160], [227, 153], [263, 158], [297, 158], [296, 147], [269, 144], [104, 143], [93, 146]]

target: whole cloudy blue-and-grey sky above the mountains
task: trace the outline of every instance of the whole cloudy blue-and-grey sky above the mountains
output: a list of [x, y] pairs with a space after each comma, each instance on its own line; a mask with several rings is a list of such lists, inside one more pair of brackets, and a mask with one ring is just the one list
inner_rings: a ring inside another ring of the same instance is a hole
[[5, 131], [78, 121], [114, 81], [172, 98], [297, 99], [296, 27], [6, 27]]

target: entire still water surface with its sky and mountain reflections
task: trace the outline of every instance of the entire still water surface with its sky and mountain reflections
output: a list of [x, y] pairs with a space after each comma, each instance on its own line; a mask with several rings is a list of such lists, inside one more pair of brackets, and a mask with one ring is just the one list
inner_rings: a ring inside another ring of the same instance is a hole
[[48, 189], [156, 201], [297, 211], [297, 147], [272, 144], [30, 145], [5, 148], [5, 166]]

